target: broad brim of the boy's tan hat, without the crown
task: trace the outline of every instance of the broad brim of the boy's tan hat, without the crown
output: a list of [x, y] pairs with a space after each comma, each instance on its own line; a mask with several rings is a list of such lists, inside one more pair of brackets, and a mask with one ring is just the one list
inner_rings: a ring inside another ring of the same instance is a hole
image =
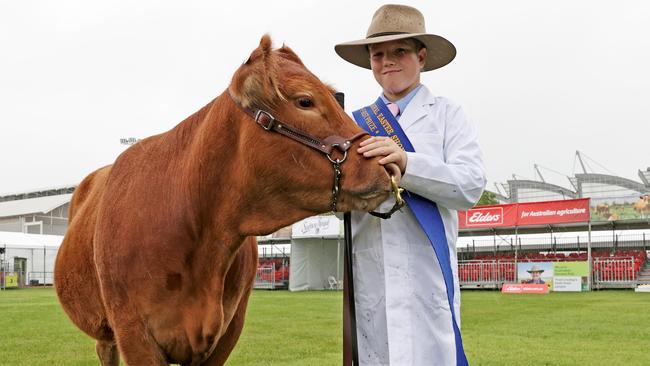
[[399, 39], [415, 38], [424, 43], [427, 48], [427, 58], [422, 71], [439, 69], [450, 63], [456, 57], [456, 47], [443, 37], [428, 33], [390, 34], [379, 37], [364, 38], [357, 41], [345, 42], [334, 46], [336, 53], [344, 60], [370, 69], [370, 54], [368, 45]]

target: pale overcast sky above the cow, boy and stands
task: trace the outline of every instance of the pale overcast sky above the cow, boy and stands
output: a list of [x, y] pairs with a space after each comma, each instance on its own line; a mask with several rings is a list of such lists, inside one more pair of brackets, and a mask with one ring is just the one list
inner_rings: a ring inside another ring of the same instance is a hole
[[[480, 129], [489, 189], [537, 163], [571, 175], [576, 150], [639, 181], [650, 166], [650, 2], [409, 1], [456, 45], [423, 74]], [[264, 33], [346, 93], [380, 89], [340, 59], [371, 1], [0, 2], [0, 194], [77, 184], [123, 137], [166, 131], [227, 87]], [[542, 170], [568, 186], [562, 175]]]

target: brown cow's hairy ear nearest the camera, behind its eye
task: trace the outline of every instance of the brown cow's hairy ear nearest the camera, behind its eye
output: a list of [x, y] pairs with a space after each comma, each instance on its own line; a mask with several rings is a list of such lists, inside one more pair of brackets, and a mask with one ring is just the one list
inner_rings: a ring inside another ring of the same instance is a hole
[[230, 88], [244, 107], [273, 109], [278, 97], [282, 98], [277, 75], [271, 37], [265, 34], [233, 76]]

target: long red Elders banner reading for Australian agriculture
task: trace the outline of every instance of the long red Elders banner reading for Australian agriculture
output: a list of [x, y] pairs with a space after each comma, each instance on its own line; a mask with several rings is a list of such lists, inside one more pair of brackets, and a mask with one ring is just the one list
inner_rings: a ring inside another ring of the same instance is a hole
[[461, 229], [589, 221], [589, 198], [478, 206], [458, 212]]

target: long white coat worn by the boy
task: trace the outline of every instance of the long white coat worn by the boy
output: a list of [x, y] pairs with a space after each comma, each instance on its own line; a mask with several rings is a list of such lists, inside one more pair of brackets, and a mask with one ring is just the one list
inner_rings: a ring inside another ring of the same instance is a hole
[[[438, 204], [454, 273], [460, 326], [456, 210], [485, 187], [475, 126], [460, 106], [420, 88], [399, 120], [415, 153], [400, 185]], [[388, 211], [391, 197], [378, 211]], [[440, 265], [408, 207], [381, 220], [352, 212], [354, 290], [361, 365], [455, 365], [451, 312]]]

